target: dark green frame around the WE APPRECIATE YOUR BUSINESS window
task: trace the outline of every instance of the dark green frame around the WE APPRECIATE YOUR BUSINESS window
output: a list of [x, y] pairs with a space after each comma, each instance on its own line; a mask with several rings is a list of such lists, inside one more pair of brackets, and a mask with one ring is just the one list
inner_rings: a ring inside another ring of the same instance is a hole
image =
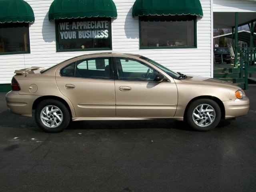
[[[59, 49], [59, 34], [58, 34], [58, 23], [59, 22], [66, 22], [66, 21], [69, 21], [69, 22], [72, 22], [72, 21], [75, 21], [75, 20], [79, 20], [81, 18], [72, 18], [72, 19], [61, 19], [61, 20], [55, 20], [54, 23], [55, 23], [55, 38], [56, 38], [56, 52], [72, 52], [72, 51], [100, 51], [100, 50], [112, 50], [112, 18], [95, 18], [95, 17], [92, 17], [92, 18], [89, 18], [91, 20], [109, 20], [110, 21], [110, 25], [109, 25], [109, 35], [110, 35], [110, 48], [87, 48], [87, 49], [65, 49], [65, 50], [60, 50]], [[82, 18], [84, 19], [84, 18]]]

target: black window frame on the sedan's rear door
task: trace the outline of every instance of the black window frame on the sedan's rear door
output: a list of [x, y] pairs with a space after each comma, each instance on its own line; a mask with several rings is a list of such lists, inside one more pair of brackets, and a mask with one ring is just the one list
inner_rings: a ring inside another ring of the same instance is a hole
[[[77, 64], [76, 64], [76, 62], [78, 62], [78, 61], [81, 61], [81, 60], [83, 60], [83, 61], [86, 61], [86, 60], [93, 60], [93, 59], [102, 59], [102, 58], [108, 58], [109, 59], [109, 62], [108, 62], [108, 65], [109, 65], [109, 71], [110, 71], [110, 77], [109, 77], [109, 79], [100, 79], [100, 78], [89, 78], [89, 77], [75, 77], [75, 73], [74, 73], [74, 76], [62, 76], [61, 75], [61, 73], [60, 73], [60, 71], [63, 69], [63, 68], [65, 68], [65, 67], [67, 67], [67, 66], [69, 66], [69, 65], [72, 65], [73, 63], [75, 63], [75, 65], [74, 65], [74, 72], [75, 72], [75, 70], [76, 70], [76, 66], [77, 66]], [[61, 77], [67, 77], [67, 78], [82, 78], [82, 79], [98, 79], [98, 80], [114, 80], [114, 71], [113, 71], [113, 58], [112, 58], [112, 56], [106, 56], [106, 57], [91, 57], [91, 58], [83, 58], [83, 59], [80, 59], [80, 60], [76, 60], [76, 61], [73, 61], [73, 62], [71, 62], [71, 63], [69, 63], [69, 64], [66, 64], [65, 66], [63, 66], [62, 68], [60, 68], [60, 70], [59, 70], [59, 75], [61, 76]]]

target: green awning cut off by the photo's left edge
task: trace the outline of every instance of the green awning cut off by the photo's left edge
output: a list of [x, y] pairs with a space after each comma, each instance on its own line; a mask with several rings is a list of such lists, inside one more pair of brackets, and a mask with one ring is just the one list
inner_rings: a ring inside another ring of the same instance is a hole
[[34, 21], [34, 12], [24, 0], [0, 0], [0, 23]]

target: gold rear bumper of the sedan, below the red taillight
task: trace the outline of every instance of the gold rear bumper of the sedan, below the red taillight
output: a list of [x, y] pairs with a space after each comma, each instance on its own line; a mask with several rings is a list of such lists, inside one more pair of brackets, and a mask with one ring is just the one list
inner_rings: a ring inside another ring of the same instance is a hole
[[6, 104], [11, 112], [32, 117], [32, 105], [39, 97], [35, 95], [22, 95], [18, 91], [10, 91], [6, 94]]

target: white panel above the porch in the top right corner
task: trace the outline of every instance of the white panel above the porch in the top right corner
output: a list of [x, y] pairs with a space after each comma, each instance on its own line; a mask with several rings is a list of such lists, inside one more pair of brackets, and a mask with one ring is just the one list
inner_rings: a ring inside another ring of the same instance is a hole
[[256, 12], [255, 1], [213, 0], [214, 12]]

